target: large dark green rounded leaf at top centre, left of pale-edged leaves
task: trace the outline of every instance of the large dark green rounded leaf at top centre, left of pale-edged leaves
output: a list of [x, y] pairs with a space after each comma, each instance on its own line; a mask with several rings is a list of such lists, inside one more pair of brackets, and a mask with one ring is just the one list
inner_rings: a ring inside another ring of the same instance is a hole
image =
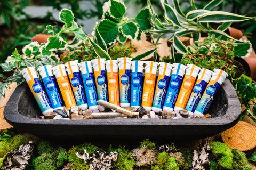
[[119, 35], [117, 23], [110, 20], [100, 21], [98, 30], [106, 44], [115, 42], [116, 37]]

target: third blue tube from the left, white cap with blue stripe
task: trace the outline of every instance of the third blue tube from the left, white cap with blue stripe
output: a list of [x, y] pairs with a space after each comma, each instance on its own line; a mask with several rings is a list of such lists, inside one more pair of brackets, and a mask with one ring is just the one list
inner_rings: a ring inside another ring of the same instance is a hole
[[132, 61], [131, 107], [139, 108], [142, 101], [142, 74], [144, 61]]

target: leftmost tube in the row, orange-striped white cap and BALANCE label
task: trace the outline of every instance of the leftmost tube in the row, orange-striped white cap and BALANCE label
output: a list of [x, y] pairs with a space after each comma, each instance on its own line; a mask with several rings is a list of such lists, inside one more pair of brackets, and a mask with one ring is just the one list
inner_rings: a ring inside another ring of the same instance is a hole
[[26, 79], [28, 86], [31, 92], [36, 99], [36, 102], [42, 111], [43, 115], [46, 115], [49, 112], [53, 112], [51, 103], [47, 98], [46, 93], [36, 75], [35, 67], [28, 67], [20, 71], [22, 76]]

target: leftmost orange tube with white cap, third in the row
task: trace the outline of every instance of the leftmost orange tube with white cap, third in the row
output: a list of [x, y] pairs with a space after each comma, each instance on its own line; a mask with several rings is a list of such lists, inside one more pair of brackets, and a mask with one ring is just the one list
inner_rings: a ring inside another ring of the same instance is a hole
[[62, 95], [66, 108], [76, 106], [76, 101], [74, 98], [74, 94], [71, 90], [71, 86], [69, 84], [65, 66], [63, 64], [55, 66], [52, 68], [52, 72], [57, 79], [57, 83], [60, 87], [60, 93]]

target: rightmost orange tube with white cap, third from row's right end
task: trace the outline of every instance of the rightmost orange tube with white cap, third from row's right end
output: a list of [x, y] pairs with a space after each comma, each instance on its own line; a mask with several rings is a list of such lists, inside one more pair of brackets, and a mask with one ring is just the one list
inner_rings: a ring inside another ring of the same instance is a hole
[[193, 90], [194, 84], [196, 82], [196, 77], [201, 68], [193, 65], [187, 64], [186, 74], [183, 78], [182, 85], [180, 87], [180, 92], [175, 103], [174, 111], [179, 112], [179, 110], [185, 109], [191, 91]]

